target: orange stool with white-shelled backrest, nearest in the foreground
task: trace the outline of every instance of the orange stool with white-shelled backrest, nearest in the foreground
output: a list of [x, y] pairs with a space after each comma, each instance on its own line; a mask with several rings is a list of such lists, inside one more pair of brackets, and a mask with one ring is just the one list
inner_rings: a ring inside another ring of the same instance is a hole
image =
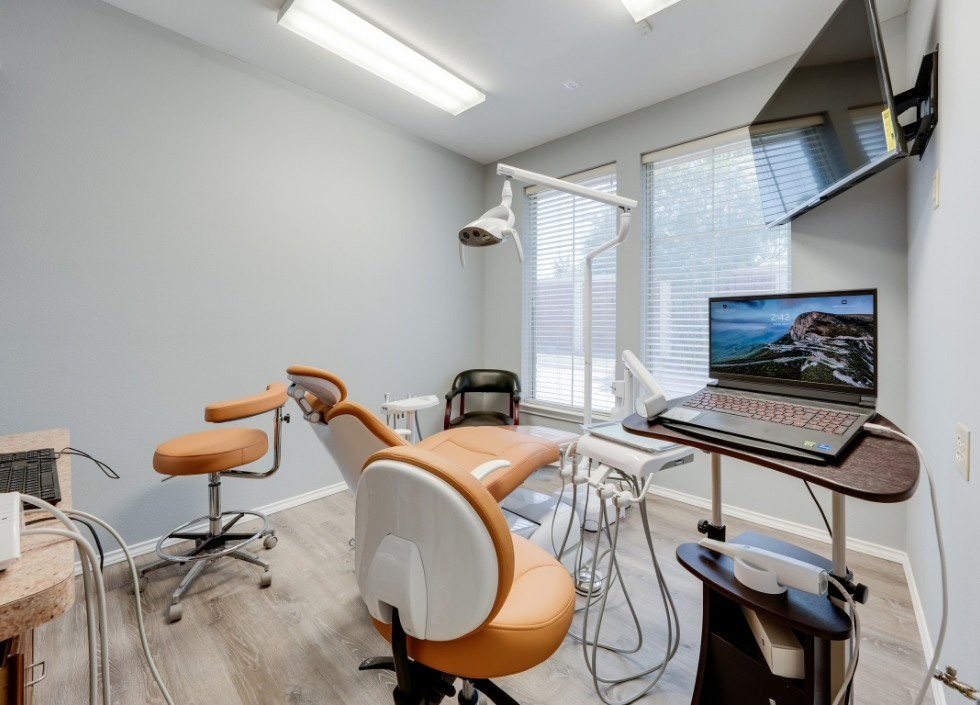
[[[396, 705], [483, 693], [517, 705], [492, 678], [526, 671], [557, 650], [572, 623], [575, 589], [558, 561], [510, 533], [495, 497], [462, 465], [417, 446], [372, 455], [355, 509], [361, 598], [390, 657]], [[410, 509], [406, 509], [410, 508]]]

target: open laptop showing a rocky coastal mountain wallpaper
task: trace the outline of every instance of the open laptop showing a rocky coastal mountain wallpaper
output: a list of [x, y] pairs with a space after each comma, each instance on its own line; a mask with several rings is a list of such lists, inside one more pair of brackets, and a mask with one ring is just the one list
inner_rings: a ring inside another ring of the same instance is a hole
[[832, 462], [875, 416], [875, 289], [708, 300], [714, 382], [660, 417], [684, 433]]

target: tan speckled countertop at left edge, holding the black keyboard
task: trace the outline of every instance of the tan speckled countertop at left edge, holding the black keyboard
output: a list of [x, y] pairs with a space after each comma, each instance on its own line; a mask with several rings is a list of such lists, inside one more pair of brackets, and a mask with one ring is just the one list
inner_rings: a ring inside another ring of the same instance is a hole
[[[34, 448], [61, 450], [68, 429], [0, 436], [0, 453]], [[71, 458], [58, 458], [59, 508], [71, 508]], [[61, 527], [56, 520], [34, 525]], [[0, 640], [23, 634], [66, 612], [75, 602], [75, 544], [55, 536], [30, 536], [21, 542], [20, 560], [0, 573]]]

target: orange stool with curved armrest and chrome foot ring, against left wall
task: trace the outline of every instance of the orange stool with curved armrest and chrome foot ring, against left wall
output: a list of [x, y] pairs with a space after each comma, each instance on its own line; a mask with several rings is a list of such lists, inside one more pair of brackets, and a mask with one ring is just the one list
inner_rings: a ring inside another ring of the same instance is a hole
[[[138, 589], [142, 591], [146, 589], [148, 573], [169, 565], [190, 564], [190, 570], [171, 596], [166, 613], [168, 622], [176, 622], [183, 616], [181, 597], [207, 566], [221, 558], [235, 558], [259, 566], [263, 569], [259, 585], [268, 587], [272, 584], [272, 573], [268, 562], [246, 550], [245, 547], [253, 541], [263, 539], [265, 548], [271, 549], [277, 542], [276, 532], [269, 528], [268, 517], [259, 512], [223, 511], [221, 478], [261, 479], [269, 477], [279, 469], [280, 430], [283, 421], [289, 422], [289, 416], [283, 417], [282, 413], [282, 407], [287, 399], [286, 385], [277, 383], [270, 384], [261, 394], [217, 402], [208, 405], [204, 410], [204, 420], [213, 423], [237, 421], [259, 414], [273, 413], [273, 464], [272, 468], [265, 472], [238, 469], [259, 460], [269, 450], [269, 439], [265, 431], [255, 428], [216, 428], [179, 436], [158, 446], [156, 453], [153, 454], [153, 469], [161, 475], [208, 476], [207, 515], [191, 519], [162, 537], [156, 546], [160, 560], [139, 571]], [[256, 530], [234, 531], [233, 529], [243, 519], [246, 521], [257, 519], [261, 522], [260, 527]], [[203, 528], [196, 528], [200, 525], [204, 525]], [[193, 541], [194, 546], [178, 552], [167, 543], [175, 540]]]

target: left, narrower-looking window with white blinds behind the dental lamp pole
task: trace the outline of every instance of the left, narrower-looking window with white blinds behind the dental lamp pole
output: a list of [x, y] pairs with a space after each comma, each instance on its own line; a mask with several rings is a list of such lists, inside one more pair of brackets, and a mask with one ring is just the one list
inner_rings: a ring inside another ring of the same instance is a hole
[[[615, 165], [568, 177], [616, 193]], [[609, 205], [554, 189], [525, 191], [523, 377], [528, 401], [584, 406], [582, 283], [585, 255], [616, 234]], [[616, 251], [593, 262], [592, 408], [612, 409], [616, 369]]]

